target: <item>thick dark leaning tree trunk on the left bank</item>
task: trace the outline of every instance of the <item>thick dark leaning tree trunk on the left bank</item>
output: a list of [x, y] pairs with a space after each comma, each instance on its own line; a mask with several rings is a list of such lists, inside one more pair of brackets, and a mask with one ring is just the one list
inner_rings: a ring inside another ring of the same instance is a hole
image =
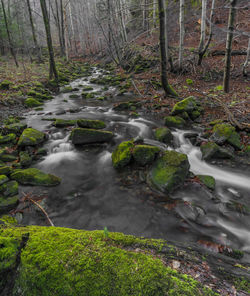
[[53, 44], [52, 44], [52, 38], [51, 38], [51, 31], [50, 31], [50, 24], [49, 24], [46, 0], [40, 0], [40, 5], [41, 5], [41, 9], [42, 9], [43, 22], [44, 22], [44, 27], [45, 27], [45, 31], [46, 31], [47, 45], [48, 45], [48, 51], [49, 51], [49, 65], [50, 65], [49, 78], [52, 79], [52, 77], [54, 75], [55, 80], [58, 81], [58, 74], [57, 74], [56, 64], [55, 64], [55, 59], [54, 59], [54, 50], [53, 50]]

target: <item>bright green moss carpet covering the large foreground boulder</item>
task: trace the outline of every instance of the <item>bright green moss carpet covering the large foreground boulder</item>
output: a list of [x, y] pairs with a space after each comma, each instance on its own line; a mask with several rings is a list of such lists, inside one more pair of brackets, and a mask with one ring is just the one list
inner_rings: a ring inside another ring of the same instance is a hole
[[27, 232], [29, 239], [22, 250], [14, 294], [22, 291], [25, 296], [215, 295], [191, 277], [165, 266], [160, 259], [123, 249], [126, 236], [109, 233], [109, 239], [105, 239], [103, 231], [3, 227], [3, 269], [7, 264], [14, 267], [18, 246]]

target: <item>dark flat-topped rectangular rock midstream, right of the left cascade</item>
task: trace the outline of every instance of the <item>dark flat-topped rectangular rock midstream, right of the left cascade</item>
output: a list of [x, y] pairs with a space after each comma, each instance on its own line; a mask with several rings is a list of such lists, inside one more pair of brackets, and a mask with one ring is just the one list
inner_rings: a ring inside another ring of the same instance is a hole
[[113, 136], [112, 132], [87, 128], [75, 128], [71, 132], [72, 143], [76, 145], [109, 142]]

